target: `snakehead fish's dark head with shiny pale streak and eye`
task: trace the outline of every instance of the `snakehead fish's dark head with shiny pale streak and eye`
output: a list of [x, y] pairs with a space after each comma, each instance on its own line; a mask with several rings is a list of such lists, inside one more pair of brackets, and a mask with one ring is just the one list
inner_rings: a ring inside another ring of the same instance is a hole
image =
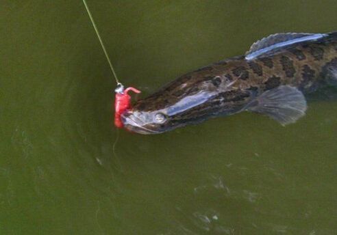
[[[182, 77], [154, 94], [138, 100], [121, 115], [124, 127], [134, 133], [158, 134], [199, 120], [198, 111], [214, 96], [205, 81]], [[205, 109], [204, 113], [207, 113]]]

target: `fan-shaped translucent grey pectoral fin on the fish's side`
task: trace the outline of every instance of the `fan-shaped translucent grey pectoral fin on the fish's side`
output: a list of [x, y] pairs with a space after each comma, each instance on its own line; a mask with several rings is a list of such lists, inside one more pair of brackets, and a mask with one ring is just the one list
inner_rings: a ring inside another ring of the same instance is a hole
[[282, 85], [270, 89], [252, 100], [247, 111], [263, 113], [285, 126], [305, 115], [307, 102], [303, 93], [295, 87]]

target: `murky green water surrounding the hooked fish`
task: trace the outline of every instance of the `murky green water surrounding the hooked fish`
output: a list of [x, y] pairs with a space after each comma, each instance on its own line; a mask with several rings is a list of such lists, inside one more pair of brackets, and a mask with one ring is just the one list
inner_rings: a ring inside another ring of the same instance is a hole
[[[337, 105], [163, 135], [112, 124], [114, 81], [82, 1], [0, 1], [0, 234], [336, 234]], [[146, 96], [284, 31], [337, 30], [336, 1], [88, 0]]]

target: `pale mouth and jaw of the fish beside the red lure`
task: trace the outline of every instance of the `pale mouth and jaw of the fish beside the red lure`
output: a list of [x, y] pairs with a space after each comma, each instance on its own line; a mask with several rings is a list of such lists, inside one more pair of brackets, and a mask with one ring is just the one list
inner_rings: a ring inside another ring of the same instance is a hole
[[123, 122], [124, 128], [132, 133], [138, 133], [142, 135], [161, 133], [158, 130], [152, 130], [148, 127], [149, 125], [146, 126], [142, 120], [136, 118], [135, 115], [132, 114], [132, 111], [125, 111], [125, 113], [121, 115], [121, 120]]

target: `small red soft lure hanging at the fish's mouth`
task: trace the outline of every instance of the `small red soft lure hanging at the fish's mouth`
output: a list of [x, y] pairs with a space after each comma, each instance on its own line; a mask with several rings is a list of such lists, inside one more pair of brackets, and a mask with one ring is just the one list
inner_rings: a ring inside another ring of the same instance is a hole
[[127, 87], [123, 89], [123, 85], [120, 85], [115, 89], [116, 95], [114, 100], [114, 125], [117, 128], [123, 128], [123, 122], [121, 121], [121, 115], [125, 110], [131, 108], [131, 96], [127, 92], [132, 91], [140, 93], [140, 90], [134, 87]]

